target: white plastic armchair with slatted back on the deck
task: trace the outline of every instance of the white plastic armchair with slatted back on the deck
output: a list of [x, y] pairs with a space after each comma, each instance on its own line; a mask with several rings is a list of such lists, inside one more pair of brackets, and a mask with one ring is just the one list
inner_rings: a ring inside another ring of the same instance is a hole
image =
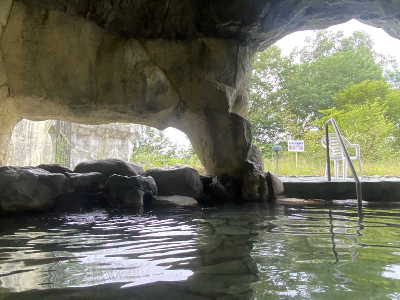
[[[347, 138], [345, 138], [343, 135], [341, 136], [343, 139], [344, 145], [347, 147], [353, 147], [355, 148], [355, 155], [350, 156], [350, 160], [357, 160], [358, 161], [358, 166], [359, 166], [359, 173], [361, 175], [361, 179], [364, 178], [364, 175], [362, 174], [362, 168], [361, 168], [361, 151], [360, 147], [358, 144], [352, 144], [350, 143]], [[320, 139], [321, 145], [326, 149], [326, 139], [325, 135], [322, 136]], [[329, 133], [329, 155], [330, 155], [330, 160], [333, 160], [333, 166], [334, 166], [334, 177], [337, 179], [339, 177], [339, 164], [338, 162], [341, 160], [343, 162], [343, 179], [347, 178], [347, 159], [343, 154], [343, 151], [340, 146], [340, 141], [336, 133]], [[326, 167], [325, 167], [325, 178], [327, 178], [327, 170], [328, 170], [328, 165], [326, 162]]]

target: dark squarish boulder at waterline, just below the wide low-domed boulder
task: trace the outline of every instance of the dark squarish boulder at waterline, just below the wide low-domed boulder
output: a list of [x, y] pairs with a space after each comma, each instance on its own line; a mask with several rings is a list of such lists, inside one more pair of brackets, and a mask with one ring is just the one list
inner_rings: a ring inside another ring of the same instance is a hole
[[111, 206], [143, 206], [157, 194], [157, 185], [151, 177], [112, 175], [106, 181], [107, 201]]

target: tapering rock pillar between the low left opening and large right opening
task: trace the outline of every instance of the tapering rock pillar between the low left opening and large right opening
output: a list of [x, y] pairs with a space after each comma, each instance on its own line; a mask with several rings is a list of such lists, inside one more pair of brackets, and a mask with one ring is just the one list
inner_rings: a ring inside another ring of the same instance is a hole
[[153, 40], [143, 46], [179, 96], [166, 126], [189, 137], [210, 175], [242, 179], [244, 162], [252, 152], [251, 125], [245, 116], [254, 50], [234, 40], [209, 37]]

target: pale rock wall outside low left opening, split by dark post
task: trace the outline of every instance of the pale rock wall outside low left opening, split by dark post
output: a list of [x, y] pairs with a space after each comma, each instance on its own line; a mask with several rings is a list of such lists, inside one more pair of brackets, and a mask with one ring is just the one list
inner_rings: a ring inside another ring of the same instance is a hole
[[[13, 128], [8, 165], [36, 166], [58, 163], [55, 158], [55, 120], [30, 121], [21, 119]], [[140, 125], [112, 123], [83, 125], [72, 123], [71, 168], [82, 161], [118, 158], [129, 161], [134, 140], [139, 137]]]

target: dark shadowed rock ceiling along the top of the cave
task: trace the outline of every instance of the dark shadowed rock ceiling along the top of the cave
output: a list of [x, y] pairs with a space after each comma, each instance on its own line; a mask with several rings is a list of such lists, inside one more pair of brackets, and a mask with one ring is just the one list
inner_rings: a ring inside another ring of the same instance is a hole
[[18, 0], [84, 17], [139, 39], [190, 40], [198, 34], [263, 49], [284, 35], [352, 18], [400, 38], [398, 0]]

